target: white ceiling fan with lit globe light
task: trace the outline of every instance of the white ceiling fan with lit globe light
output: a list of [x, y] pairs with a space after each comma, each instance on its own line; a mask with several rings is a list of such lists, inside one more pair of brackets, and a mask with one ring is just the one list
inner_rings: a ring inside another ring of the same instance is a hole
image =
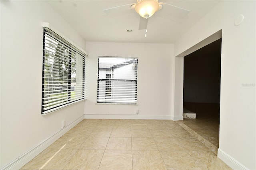
[[137, 0], [137, 4], [126, 4], [103, 10], [106, 14], [121, 13], [134, 9], [140, 15], [139, 30], [147, 29], [148, 18], [158, 10], [164, 10], [164, 15], [184, 18], [190, 11], [184, 8], [158, 2], [158, 0]]

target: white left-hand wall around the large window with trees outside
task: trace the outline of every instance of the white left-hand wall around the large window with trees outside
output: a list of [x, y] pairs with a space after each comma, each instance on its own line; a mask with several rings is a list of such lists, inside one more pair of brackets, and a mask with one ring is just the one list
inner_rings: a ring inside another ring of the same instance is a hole
[[80, 47], [85, 42], [46, 1], [0, 1], [0, 168], [84, 114], [84, 102], [41, 115], [42, 22]]

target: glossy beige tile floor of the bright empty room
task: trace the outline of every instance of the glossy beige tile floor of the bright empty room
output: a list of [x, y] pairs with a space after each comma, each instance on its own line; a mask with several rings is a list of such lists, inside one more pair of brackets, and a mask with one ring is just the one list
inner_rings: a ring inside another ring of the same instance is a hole
[[229, 170], [200, 136], [184, 121], [84, 119], [21, 169]]

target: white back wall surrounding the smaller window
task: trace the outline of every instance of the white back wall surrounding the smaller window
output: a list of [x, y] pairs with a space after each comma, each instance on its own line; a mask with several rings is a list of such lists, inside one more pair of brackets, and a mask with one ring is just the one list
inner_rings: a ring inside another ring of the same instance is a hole
[[[172, 44], [86, 42], [86, 51], [90, 54], [88, 73], [90, 90], [85, 103], [86, 118], [171, 119], [173, 117]], [[96, 104], [98, 56], [138, 57], [138, 105]], [[134, 115], [136, 109], [139, 109], [139, 115]]]

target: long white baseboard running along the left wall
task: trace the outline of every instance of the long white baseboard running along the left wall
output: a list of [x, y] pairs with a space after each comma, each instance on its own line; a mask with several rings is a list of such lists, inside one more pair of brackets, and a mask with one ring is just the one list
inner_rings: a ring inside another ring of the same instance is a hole
[[34, 148], [28, 150], [26, 153], [22, 154], [3, 168], [1, 170], [18, 170], [22, 168], [22, 166], [26, 165], [30, 160], [40, 154], [43, 150], [45, 150], [48, 146], [50, 146], [53, 142], [55, 142], [58, 138], [60, 138], [63, 134], [68, 132], [71, 128], [76, 126], [79, 122], [84, 120], [84, 115], [76, 119], [74, 122], [70, 123], [62, 130], [57, 132], [56, 134], [52, 135], [50, 138], [44, 140]]

